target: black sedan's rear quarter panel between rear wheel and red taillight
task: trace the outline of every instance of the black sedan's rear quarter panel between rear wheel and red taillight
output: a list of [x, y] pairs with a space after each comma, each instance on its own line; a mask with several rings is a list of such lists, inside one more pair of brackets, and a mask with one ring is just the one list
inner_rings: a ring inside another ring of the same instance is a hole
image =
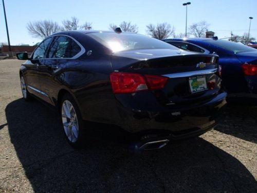
[[61, 90], [67, 90], [77, 100], [84, 120], [115, 124], [119, 114], [109, 82], [109, 74], [113, 71], [109, 56], [82, 58], [63, 65], [53, 77], [60, 85], [53, 100], [57, 101]]

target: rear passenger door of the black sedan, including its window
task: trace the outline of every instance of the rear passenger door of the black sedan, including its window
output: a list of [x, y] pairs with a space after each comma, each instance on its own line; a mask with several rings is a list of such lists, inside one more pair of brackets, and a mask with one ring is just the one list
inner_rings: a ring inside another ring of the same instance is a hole
[[76, 63], [75, 60], [83, 53], [83, 46], [72, 37], [54, 36], [44, 65], [38, 67], [40, 87], [46, 102], [54, 104], [52, 96], [55, 96], [64, 76], [60, 72], [65, 66]]

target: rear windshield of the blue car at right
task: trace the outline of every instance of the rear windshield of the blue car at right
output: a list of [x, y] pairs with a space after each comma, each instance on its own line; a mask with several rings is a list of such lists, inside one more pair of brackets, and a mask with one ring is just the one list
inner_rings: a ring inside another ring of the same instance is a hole
[[240, 51], [256, 51], [254, 48], [246, 46], [242, 43], [235, 43], [230, 42], [226, 40], [205, 40], [206, 42], [209, 42], [210, 44], [220, 46], [224, 49], [233, 51], [233, 52], [240, 52]]

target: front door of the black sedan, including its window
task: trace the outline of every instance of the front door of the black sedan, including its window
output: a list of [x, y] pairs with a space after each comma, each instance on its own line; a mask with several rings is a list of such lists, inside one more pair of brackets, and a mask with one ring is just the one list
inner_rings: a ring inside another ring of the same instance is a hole
[[34, 50], [30, 60], [27, 60], [23, 65], [26, 66], [26, 72], [24, 78], [27, 84], [28, 91], [42, 98], [44, 93], [41, 91], [41, 86], [39, 82], [39, 66], [45, 63], [45, 55], [48, 46], [52, 38], [47, 38]]

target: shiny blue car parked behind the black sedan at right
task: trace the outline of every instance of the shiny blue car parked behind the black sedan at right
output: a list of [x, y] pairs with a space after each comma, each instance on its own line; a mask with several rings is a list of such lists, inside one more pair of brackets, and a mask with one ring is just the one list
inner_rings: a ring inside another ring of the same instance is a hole
[[178, 48], [217, 54], [222, 66], [223, 86], [229, 97], [257, 99], [257, 50], [241, 43], [211, 38], [163, 40]]

